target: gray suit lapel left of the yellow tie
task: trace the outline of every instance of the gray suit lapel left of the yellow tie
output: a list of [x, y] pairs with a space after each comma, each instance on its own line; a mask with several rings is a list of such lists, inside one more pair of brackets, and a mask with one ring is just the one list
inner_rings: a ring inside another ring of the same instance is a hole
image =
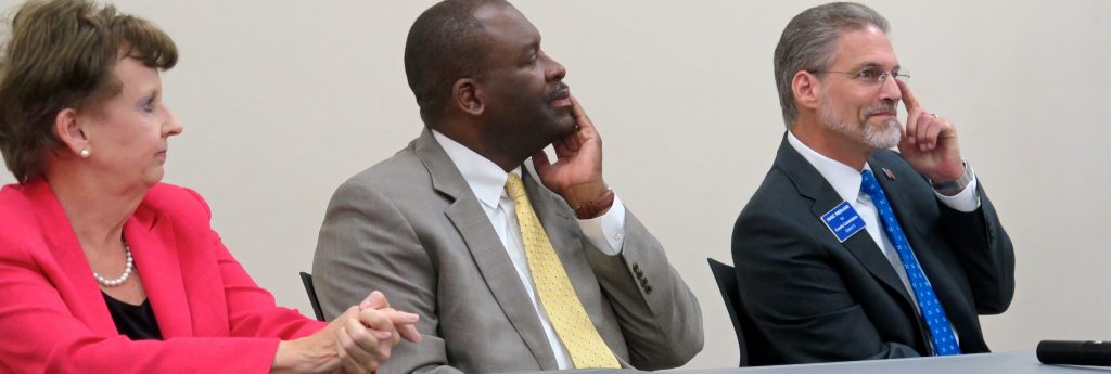
[[453, 201], [444, 214], [467, 243], [467, 249], [471, 252], [490, 292], [498, 300], [498, 305], [528, 344], [540, 367], [558, 368], [556, 356], [537, 316], [537, 310], [532, 306], [529, 294], [520, 276], [517, 275], [517, 269], [513, 267], [512, 260], [509, 259], [506, 247], [498, 237], [498, 232], [482, 210], [481, 202], [471, 192], [467, 180], [459, 173], [459, 169], [432, 137], [430, 130], [424, 129], [414, 146], [417, 156], [432, 176], [432, 186]]

